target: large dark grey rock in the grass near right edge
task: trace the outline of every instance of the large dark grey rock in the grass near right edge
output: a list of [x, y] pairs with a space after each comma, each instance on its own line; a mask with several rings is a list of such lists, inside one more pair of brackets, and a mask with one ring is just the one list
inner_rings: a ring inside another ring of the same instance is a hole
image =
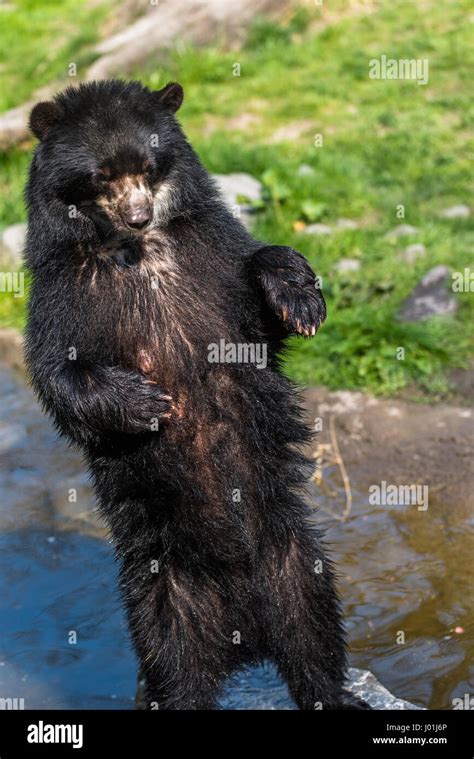
[[419, 322], [431, 316], [454, 314], [458, 304], [446, 287], [448, 278], [446, 266], [430, 269], [402, 305], [399, 318], [405, 322]]

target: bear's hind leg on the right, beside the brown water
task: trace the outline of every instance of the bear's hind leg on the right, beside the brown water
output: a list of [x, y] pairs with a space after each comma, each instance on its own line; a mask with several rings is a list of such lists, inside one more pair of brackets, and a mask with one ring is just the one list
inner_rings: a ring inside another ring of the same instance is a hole
[[[369, 708], [344, 690], [346, 652], [330, 563], [309, 529], [273, 547], [265, 571], [270, 657], [297, 706]], [[264, 580], [265, 582], [265, 580]]]

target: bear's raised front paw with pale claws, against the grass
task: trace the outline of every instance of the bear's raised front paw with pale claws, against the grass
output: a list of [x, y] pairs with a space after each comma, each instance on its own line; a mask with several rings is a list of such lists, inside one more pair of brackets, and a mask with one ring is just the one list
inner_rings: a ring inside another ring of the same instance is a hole
[[326, 303], [308, 262], [298, 251], [269, 245], [251, 265], [270, 308], [290, 333], [312, 337], [326, 318]]

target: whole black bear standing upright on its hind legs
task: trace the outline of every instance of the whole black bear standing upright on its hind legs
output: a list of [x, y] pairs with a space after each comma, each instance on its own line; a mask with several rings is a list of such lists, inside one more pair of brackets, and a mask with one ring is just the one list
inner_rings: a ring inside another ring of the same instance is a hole
[[[301, 709], [366, 708], [344, 688], [331, 566], [299, 494], [310, 435], [279, 362], [324, 300], [299, 253], [226, 209], [175, 119], [182, 96], [109, 81], [33, 109], [33, 386], [85, 454], [150, 708], [211, 709], [263, 659]], [[221, 340], [265, 362], [212, 363]]]

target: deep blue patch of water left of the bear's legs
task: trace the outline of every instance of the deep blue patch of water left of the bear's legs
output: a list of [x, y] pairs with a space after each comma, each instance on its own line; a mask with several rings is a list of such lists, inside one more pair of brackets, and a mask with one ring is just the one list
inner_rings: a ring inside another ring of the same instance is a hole
[[130, 709], [135, 662], [110, 546], [37, 527], [0, 538], [0, 692], [25, 708]]

